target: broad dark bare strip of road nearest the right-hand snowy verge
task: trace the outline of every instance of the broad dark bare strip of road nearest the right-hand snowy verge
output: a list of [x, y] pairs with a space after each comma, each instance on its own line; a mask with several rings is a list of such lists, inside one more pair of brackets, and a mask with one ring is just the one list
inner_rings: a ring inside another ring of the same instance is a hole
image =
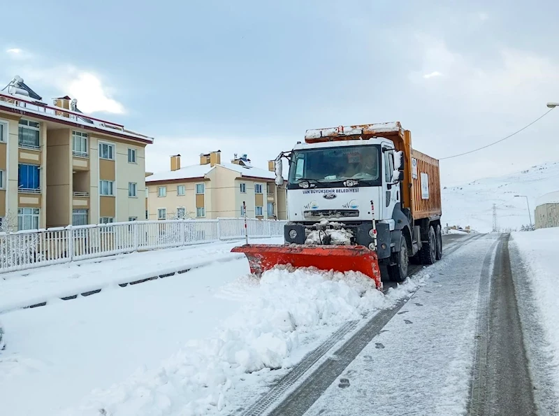
[[[537, 415], [509, 257], [509, 235], [484, 261], [470, 416]], [[491, 281], [489, 279], [491, 276]]]

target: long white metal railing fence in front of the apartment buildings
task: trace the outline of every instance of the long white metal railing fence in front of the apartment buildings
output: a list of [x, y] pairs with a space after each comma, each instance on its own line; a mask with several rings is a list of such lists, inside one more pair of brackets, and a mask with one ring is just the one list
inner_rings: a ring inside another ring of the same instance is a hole
[[[285, 223], [247, 218], [248, 236], [283, 236]], [[0, 233], [0, 273], [244, 237], [243, 218], [115, 222]]]

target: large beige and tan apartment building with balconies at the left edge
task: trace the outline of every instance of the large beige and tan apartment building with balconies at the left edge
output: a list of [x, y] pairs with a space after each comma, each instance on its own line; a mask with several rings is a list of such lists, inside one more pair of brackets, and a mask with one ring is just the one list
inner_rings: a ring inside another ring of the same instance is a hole
[[0, 220], [10, 230], [143, 220], [153, 138], [52, 105], [15, 77], [0, 91]]

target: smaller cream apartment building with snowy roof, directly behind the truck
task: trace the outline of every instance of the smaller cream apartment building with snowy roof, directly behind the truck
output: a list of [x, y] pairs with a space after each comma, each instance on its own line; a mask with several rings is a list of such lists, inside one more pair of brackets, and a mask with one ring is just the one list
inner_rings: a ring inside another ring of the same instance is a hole
[[145, 178], [146, 215], [150, 220], [247, 217], [286, 219], [286, 192], [275, 185], [273, 161], [268, 170], [255, 168], [247, 155], [222, 163], [221, 152], [200, 155], [200, 164], [180, 166], [170, 158], [170, 171]]

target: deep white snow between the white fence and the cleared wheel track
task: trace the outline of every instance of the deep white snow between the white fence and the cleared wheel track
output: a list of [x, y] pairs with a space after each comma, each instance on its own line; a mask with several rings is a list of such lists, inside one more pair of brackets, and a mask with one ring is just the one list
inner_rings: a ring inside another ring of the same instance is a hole
[[[227, 413], [270, 369], [289, 368], [343, 322], [388, 307], [415, 287], [409, 282], [385, 296], [361, 274], [284, 270], [258, 282], [244, 255], [229, 253], [233, 245], [3, 275], [0, 309], [48, 303], [0, 315], [2, 414]], [[59, 300], [99, 287], [99, 294]]]

